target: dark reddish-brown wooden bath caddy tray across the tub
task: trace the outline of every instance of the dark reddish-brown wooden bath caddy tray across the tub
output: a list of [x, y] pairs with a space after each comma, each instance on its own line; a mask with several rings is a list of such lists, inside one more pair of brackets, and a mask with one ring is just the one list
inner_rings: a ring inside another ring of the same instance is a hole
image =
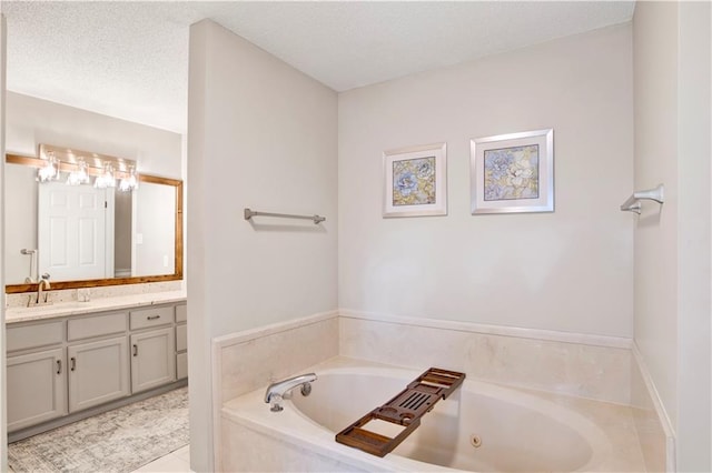
[[[421, 425], [421, 417], [433, 410], [437, 401], [447, 399], [465, 380], [465, 373], [431, 368], [390, 401], [370, 411], [336, 434], [336, 441], [384, 456], [398, 446]], [[379, 420], [405, 426], [394, 437], [364, 429], [368, 422]]]

